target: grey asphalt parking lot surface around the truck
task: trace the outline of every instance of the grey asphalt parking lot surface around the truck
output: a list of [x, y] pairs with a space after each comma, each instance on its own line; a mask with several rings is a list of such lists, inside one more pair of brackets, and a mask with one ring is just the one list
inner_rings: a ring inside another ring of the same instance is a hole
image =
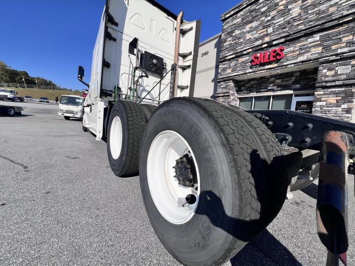
[[[58, 105], [0, 117], [0, 265], [180, 265], [147, 217], [139, 179], [116, 177], [106, 144]], [[348, 265], [355, 265], [355, 197], [349, 176]], [[227, 265], [325, 265], [316, 233], [317, 185], [294, 193], [275, 220]]]

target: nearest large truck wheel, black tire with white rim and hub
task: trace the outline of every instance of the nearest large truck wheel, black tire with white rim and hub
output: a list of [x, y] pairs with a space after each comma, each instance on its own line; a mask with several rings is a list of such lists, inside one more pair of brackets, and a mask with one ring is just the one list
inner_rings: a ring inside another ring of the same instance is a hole
[[277, 140], [259, 120], [185, 97], [164, 102], [151, 117], [139, 178], [153, 229], [184, 265], [229, 260], [277, 215], [288, 182]]

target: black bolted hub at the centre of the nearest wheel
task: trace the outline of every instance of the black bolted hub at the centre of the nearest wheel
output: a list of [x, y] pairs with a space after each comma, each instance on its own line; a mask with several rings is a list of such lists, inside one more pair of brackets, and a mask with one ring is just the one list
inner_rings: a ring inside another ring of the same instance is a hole
[[196, 170], [192, 158], [186, 154], [183, 157], [177, 159], [175, 162], [176, 164], [172, 168], [175, 169], [174, 177], [179, 182], [179, 185], [190, 187], [194, 186], [194, 182], [196, 181], [194, 180], [196, 179]]

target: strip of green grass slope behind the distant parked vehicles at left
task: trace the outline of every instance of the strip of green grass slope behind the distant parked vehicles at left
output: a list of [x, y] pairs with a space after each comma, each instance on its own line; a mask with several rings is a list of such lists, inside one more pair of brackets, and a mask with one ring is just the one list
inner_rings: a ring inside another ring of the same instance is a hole
[[17, 96], [32, 96], [34, 99], [39, 99], [41, 97], [47, 97], [50, 100], [55, 100], [55, 97], [60, 98], [61, 95], [79, 95], [83, 96], [80, 91], [56, 91], [56, 90], [41, 90], [41, 89], [22, 89], [22, 88], [6, 88], [10, 90], [15, 90], [18, 94]]

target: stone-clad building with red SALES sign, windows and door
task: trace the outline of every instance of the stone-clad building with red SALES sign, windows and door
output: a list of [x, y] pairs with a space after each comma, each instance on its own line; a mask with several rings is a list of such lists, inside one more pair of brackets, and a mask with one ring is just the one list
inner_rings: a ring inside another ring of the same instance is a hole
[[355, 121], [355, 0], [245, 0], [221, 19], [218, 101]]

